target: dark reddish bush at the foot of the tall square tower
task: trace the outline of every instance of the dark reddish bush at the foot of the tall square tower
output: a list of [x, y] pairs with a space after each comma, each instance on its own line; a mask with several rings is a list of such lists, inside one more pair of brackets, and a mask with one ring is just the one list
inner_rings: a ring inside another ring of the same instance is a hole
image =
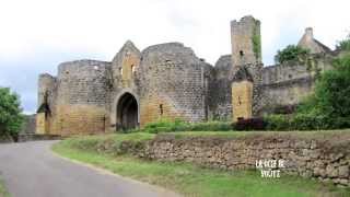
[[235, 130], [265, 130], [266, 123], [262, 118], [238, 119], [233, 127]]

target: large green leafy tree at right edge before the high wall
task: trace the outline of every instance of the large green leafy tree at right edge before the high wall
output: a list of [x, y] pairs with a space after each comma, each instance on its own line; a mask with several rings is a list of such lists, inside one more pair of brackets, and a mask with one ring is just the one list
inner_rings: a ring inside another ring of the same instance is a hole
[[299, 113], [324, 117], [334, 127], [350, 126], [350, 55], [335, 59], [334, 69], [320, 74], [315, 92]]

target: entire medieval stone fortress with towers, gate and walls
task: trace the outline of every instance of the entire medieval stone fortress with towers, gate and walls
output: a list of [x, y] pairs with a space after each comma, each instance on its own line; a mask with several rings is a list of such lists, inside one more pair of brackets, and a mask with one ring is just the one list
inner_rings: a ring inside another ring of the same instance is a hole
[[[236, 120], [294, 106], [312, 92], [316, 71], [306, 63], [264, 67], [258, 20], [232, 21], [231, 43], [232, 54], [214, 67], [180, 43], [140, 51], [130, 40], [112, 61], [60, 63], [57, 77], [39, 76], [36, 132], [106, 132], [160, 118]], [[339, 54], [316, 40], [312, 28], [299, 45], [312, 51], [319, 70]]]

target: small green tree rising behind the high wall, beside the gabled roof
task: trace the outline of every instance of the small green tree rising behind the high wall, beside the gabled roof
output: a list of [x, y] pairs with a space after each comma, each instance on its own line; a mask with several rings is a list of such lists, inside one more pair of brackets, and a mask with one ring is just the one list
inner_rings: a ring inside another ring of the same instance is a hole
[[278, 50], [275, 56], [277, 63], [283, 63], [285, 61], [305, 61], [310, 51], [300, 46], [288, 45], [284, 49]]

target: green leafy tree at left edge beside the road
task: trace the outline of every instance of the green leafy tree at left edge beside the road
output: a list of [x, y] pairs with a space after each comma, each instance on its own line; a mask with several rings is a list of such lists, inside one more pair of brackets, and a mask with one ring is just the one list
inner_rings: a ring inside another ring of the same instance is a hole
[[23, 116], [19, 95], [8, 88], [0, 88], [0, 137], [15, 138], [21, 130]]

